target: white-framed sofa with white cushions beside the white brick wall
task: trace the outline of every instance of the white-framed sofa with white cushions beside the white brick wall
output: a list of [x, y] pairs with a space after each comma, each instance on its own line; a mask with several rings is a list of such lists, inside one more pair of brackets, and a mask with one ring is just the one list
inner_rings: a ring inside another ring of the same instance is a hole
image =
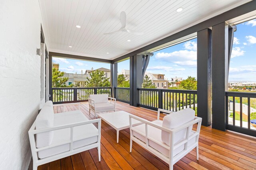
[[[80, 103], [78, 104], [80, 108]], [[63, 106], [71, 104], [58, 104]], [[98, 123], [98, 129], [92, 124]], [[46, 102], [28, 131], [33, 170], [39, 165], [85, 150], [98, 148], [100, 161], [101, 119], [89, 120], [80, 110], [54, 114], [52, 101]]]

